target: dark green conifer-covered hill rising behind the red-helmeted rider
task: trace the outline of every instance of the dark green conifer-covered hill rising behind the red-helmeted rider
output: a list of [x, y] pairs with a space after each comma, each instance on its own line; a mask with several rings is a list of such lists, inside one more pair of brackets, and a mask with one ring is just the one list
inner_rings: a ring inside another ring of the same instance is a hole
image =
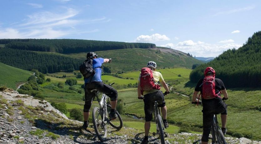
[[190, 74], [190, 80], [203, 78], [206, 67], [216, 71], [226, 87], [261, 86], [261, 31], [248, 38], [239, 49], [229, 49], [207, 64], [197, 66]]

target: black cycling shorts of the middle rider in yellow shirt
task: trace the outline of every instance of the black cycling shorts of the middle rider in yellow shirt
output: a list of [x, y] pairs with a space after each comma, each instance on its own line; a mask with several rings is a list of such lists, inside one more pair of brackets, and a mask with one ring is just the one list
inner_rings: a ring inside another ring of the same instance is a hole
[[145, 112], [145, 121], [152, 120], [152, 113], [154, 109], [154, 101], [158, 101], [158, 107], [165, 106], [164, 95], [162, 91], [158, 90], [156, 92], [144, 95], [144, 112]]

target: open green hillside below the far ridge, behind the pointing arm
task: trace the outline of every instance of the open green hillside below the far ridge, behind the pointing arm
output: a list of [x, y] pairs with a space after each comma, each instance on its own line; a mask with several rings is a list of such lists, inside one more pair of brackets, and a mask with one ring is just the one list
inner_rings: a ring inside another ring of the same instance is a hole
[[[187, 54], [169, 48], [153, 49], [117, 49], [107, 51], [96, 51], [99, 57], [112, 58], [111, 64], [105, 64], [112, 72], [122, 73], [139, 70], [146, 67], [149, 61], [155, 61], [157, 68], [186, 67], [191, 69], [193, 64], [202, 64], [200, 60], [194, 59]], [[74, 58], [84, 59], [86, 53], [70, 54]]]

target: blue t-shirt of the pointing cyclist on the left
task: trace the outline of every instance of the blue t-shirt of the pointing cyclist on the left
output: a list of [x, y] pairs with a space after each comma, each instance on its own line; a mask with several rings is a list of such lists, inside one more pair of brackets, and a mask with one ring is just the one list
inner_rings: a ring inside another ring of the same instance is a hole
[[101, 67], [101, 64], [103, 62], [104, 62], [103, 58], [97, 58], [97, 59], [92, 60], [92, 68], [95, 69], [95, 75], [91, 76], [89, 78], [85, 78], [84, 79], [85, 84], [93, 82], [93, 81], [102, 82], [102, 80], [101, 80], [101, 68], [100, 67]]

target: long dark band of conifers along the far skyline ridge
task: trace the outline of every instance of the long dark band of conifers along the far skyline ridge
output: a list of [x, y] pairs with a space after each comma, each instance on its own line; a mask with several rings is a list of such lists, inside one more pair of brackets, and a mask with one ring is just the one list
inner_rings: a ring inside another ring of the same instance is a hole
[[0, 39], [7, 48], [30, 51], [57, 52], [61, 54], [83, 53], [113, 49], [155, 48], [151, 43], [125, 43], [82, 39]]

